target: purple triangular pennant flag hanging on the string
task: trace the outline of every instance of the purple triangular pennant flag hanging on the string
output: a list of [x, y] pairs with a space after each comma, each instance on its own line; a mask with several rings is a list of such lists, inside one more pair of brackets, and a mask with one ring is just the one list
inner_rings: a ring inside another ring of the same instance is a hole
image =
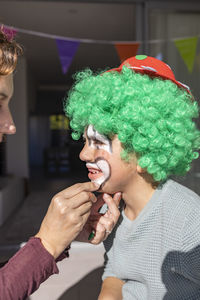
[[62, 71], [65, 74], [73, 60], [80, 42], [56, 39]]

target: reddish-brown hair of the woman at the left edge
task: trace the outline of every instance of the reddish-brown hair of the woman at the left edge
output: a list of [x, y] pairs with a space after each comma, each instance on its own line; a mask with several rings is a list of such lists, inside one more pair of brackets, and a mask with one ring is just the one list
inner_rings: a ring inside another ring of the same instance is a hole
[[0, 28], [0, 76], [11, 74], [17, 65], [19, 55], [22, 55], [21, 46], [15, 40], [9, 39]]

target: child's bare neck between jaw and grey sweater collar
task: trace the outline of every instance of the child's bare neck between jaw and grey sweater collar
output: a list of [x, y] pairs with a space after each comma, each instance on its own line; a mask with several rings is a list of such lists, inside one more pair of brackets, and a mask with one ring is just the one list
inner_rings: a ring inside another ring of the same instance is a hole
[[156, 190], [157, 185], [146, 181], [143, 177], [138, 176], [134, 182], [127, 187], [122, 193], [122, 198], [125, 202], [125, 215], [128, 219], [134, 220], [143, 210], [145, 205], [151, 199]]

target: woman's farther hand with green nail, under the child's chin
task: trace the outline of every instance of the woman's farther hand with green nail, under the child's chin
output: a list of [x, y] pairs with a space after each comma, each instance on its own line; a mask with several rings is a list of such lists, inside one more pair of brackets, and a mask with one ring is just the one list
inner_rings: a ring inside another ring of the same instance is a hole
[[[115, 227], [120, 211], [118, 209], [121, 200], [121, 193], [113, 196], [109, 194], [100, 194], [97, 202], [93, 204], [90, 216], [76, 240], [81, 242], [90, 242], [97, 245], [104, 241]], [[99, 213], [103, 204], [107, 204], [108, 210], [105, 214]]]

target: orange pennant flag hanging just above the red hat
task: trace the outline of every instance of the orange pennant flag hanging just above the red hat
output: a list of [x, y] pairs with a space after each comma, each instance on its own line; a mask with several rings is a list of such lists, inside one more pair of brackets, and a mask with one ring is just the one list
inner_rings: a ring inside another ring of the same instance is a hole
[[137, 54], [139, 43], [134, 44], [123, 44], [123, 43], [117, 43], [115, 44], [115, 48], [117, 50], [117, 53], [119, 55], [119, 58], [121, 62], [126, 60], [127, 58], [131, 56], [135, 56]]

